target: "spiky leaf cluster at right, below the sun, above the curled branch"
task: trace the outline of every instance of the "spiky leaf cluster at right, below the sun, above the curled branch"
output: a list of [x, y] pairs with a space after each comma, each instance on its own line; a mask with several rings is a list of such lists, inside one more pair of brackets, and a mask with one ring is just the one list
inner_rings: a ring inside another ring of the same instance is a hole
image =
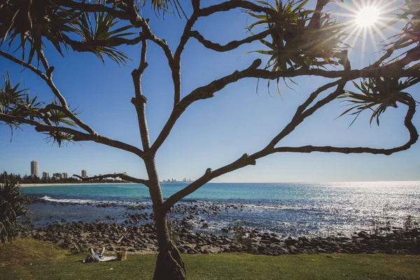
[[376, 118], [377, 125], [379, 125], [379, 117], [386, 111], [388, 107], [397, 108], [398, 102], [409, 105], [414, 101], [413, 97], [407, 92], [403, 92], [407, 87], [411, 87], [419, 83], [420, 78], [410, 77], [404, 81], [398, 78], [368, 78], [360, 81], [360, 85], [353, 82], [353, 85], [361, 92], [353, 92], [346, 90], [344, 94], [338, 98], [344, 98], [348, 102], [346, 106], [350, 106], [339, 117], [347, 113], [356, 115], [353, 122], [358, 118], [361, 112], [371, 110], [370, 124]]

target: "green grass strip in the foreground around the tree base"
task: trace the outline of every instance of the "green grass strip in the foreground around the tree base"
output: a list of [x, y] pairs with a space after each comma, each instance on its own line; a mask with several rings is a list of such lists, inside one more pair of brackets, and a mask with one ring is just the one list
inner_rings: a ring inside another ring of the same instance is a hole
[[[13, 251], [15, 250], [15, 251]], [[23, 251], [21, 251], [23, 250]], [[27, 252], [21, 253], [21, 252]], [[0, 248], [0, 279], [152, 279], [156, 255], [83, 264], [33, 239]], [[420, 279], [419, 255], [183, 255], [188, 279]]]

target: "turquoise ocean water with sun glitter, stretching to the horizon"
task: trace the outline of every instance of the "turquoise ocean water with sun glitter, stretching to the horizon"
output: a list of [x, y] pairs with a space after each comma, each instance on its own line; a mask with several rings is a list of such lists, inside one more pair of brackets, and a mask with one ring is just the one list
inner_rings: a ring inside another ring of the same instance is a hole
[[[185, 186], [162, 183], [162, 192], [169, 197]], [[151, 213], [148, 189], [140, 184], [22, 190], [45, 202], [29, 205], [35, 227], [72, 221], [124, 223], [127, 215]], [[115, 203], [115, 207], [97, 207], [106, 202]], [[180, 203], [197, 209], [217, 207], [217, 211], [193, 214], [195, 230], [204, 233], [221, 233], [222, 228], [241, 225], [292, 237], [351, 235], [374, 226], [402, 227], [408, 216], [411, 221], [420, 221], [420, 182], [207, 183]], [[146, 209], [131, 208], [138, 205]], [[190, 214], [175, 213], [172, 218], [183, 215]], [[202, 227], [203, 221], [208, 227]]]

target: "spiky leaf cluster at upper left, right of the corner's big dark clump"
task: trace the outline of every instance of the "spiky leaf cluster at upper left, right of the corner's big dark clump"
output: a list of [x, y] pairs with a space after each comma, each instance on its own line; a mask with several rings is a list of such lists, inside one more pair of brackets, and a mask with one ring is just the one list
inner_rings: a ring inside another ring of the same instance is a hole
[[[76, 28], [77, 33], [83, 38], [83, 41], [90, 45], [94, 41], [106, 41], [108, 39], [123, 38], [135, 34], [134, 32], [125, 32], [132, 28], [132, 25], [126, 25], [113, 29], [120, 20], [117, 20], [109, 13], [94, 13], [94, 22], [90, 20], [89, 13], [83, 13], [77, 20]], [[113, 30], [111, 30], [113, 29]], [[103, 45], [94, 45], [89, 48], [90, 52], [99, 57], [102, 62], [105, 62], [104, 56], [106, 55], [118, 64], [126, 64], [127, 57], [124, 52], [115, 47], [107, 47]]]

